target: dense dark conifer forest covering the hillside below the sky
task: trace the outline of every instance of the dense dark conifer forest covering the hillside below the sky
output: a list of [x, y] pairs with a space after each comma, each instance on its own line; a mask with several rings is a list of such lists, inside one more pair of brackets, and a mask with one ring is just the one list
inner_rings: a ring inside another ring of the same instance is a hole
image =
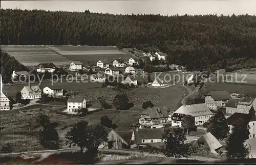
[[1, 17], [1, 45], [117, 45], [161, 50], [188, 70], [256, 67], [256, 16], [1, 9]]

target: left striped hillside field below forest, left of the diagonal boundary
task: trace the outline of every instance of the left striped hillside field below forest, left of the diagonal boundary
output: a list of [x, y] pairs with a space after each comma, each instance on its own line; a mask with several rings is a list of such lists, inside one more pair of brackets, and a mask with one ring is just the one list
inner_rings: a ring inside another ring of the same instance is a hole
[[1, 46], [2, 50], [13, 56], [25, 66], [39, 63], [54, 63], [56, 66], [69, 65], [71, 60], [51, 51], [45, 46]]

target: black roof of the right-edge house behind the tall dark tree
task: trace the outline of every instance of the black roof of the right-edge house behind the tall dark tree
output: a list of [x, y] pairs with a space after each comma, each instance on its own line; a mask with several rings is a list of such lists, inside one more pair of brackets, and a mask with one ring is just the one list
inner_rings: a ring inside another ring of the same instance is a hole
[[250, 114], [242, 114], [242, 113], [234, 113], [229, 118], [227, 118], [228, 125], [235, 125], [238, 123], [239, 120], [243, 120], [245, 124], [248, 124], [251, 121]]

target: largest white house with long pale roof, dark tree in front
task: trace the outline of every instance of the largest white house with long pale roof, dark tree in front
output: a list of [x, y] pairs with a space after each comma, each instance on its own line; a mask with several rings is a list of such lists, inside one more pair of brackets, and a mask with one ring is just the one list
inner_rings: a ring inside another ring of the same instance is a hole
[[180, 127], [182, 119], [186, 115], [193, 116], [196, 125], [202, 125], [203, 123], [207, 122], [210, 117], [214, 116], [214, 114], [204, 103], [182, 105], [174, 112], [172, 116], [172, 126]]

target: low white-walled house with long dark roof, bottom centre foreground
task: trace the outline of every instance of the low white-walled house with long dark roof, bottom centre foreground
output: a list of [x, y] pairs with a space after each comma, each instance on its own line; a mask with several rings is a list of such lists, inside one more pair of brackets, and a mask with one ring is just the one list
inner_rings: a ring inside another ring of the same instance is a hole
[[163, 128], [136, 128], [133, 130], [130, 142], [131, 148], [146, 147], [146, 145], [159, 147], [164, 144], [164, 141], [162, 140], [163, 133]]

